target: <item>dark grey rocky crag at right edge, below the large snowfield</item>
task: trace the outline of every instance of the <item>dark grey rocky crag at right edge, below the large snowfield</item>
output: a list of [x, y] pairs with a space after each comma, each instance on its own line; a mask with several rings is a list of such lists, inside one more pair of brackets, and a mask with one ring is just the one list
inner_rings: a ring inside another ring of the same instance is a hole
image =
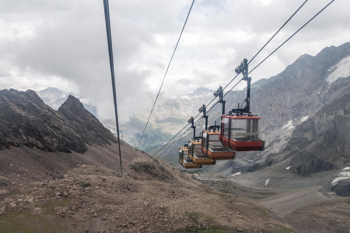
[[[349, 88], [348, 88], [349, 89]], [[286, 150], [290, 170], [305, 174], [332, 170], [350, 163], [350, 95], [321, 108], [296, 126]]]

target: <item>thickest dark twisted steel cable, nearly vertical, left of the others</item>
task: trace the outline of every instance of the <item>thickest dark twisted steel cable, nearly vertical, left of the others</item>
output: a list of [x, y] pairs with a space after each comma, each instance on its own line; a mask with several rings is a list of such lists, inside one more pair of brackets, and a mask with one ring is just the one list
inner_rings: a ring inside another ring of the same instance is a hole
[[105, 10], [107, 43], [108, 43], [108, 53], [109, 53], [109, 58], [110, 58], [112, 89], [113, 89], [113, 100], [114, 100], [114, 112], [116, 114], [116, 124], [117, 124], [117, 134], [118, 134], [118, 147], [119, 147], [119, 158], [120, 158], [120, 171], [121, 171], [121, 177], [123, 179], [123, 167], [121, 165], [121, 151], [120, 151], [120, 140], [119, 140], [119, 124], [118, 124], [118, 110], [117, 110], [116, 81], [114, 79], [112, 35], [111, 35], [111, 23], [110, 23], [108, 0], [103, 0], [103, 7], [104, 7], [104, 10]]

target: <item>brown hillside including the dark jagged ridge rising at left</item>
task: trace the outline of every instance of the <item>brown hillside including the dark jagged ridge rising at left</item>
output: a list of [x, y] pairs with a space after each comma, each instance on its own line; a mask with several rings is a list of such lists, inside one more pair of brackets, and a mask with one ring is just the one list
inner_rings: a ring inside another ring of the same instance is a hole
[[[346, 225], [350, 220], [349, 198], [334, 198], [320, 188], [311, 192], [296, 190], [293, 192], [296, 200], [298, 195], [305, 196], [297, 208], [307, 211], [307, 219], [315, 219], [318, 210], [344, 209], [331, 217], [328, 214], [317, 216], [314, 225], [295, 222], [271, 209], [275, 205], [269, 204], [271, 201], [266, 199], [274, 199], [278, 195], [283, 201], [286, 191], [262, 190], [214, 173], [192, 175], [192, 179], [189, 174], [166, 162], [157, 160], [151, 163], [152, 160], [148, 161], [150, 156], [142, 151], [134, 156], [135, 148], [123, 141], [123, 170], [128, 172], [128, 177], [122, 180], [116, 139], [107, 139], [111, 133], [100, 129], [99, 121], [87, 113], [76, 98], [69, 97], [56, 111], [42, 104], [30, 90], [2, 90], [0, 94], [1, 108], [11, 109], [13, 114], [17, 114], [15, 118], [6, 118], [6, 124], [2, 120], [1, 125], [1, 132], [6, 130], [7, 137], [10, 137], [9, 140], [1, 135], [2, 142], [8, 143], [2, 144], [0, 150], [1, 232], [350, 230]], [[47, 114], [50, 114], [49, 118], [45, 118]], [[37, 128], [26, 128], [24, 123], [19, 126], [18, 117], [32, 117], [30, 120], [37, 122]], [[41, 143], [47, 142], [45, 135], [51, 135], [52, 128], [57, 131], [62, 122], [66, 128], [57, 133], [57, 137], [79, 136], [85, 146], [79, 148], [85, 148], [85, 151], [74, 150], [75, 147], [69, 147], [70, 144], [64, 140], [57, 140], [57, 144], [52, 145]], [[40, 125], [45, 127], [38, 127]], [[20, 130], [24, 135], [36, 132], [31, 134], [35, 140], [16, 133]], [[36, 147], [40, 146], [39, 143], [42, 146]], [[60, 149], [63, 145], [69, 147], [66, 152]], [[253, 179], [250, 177], [248, 180]], [[306, 194], [315, 198], [309, 199]], [[317, 200], [332, 200], [332, 205], [317, 204]], [[308, 207], [311, 204], [312, 211]], [[279, 209], [283, 213], [286, 210], [288, 208]], [[293, 216], [293, 213], [287, 213]], [[341, 221], [337, 222], [338, 219]], [[318, 221], [322, 221], [322, 225], [316, 225]]]

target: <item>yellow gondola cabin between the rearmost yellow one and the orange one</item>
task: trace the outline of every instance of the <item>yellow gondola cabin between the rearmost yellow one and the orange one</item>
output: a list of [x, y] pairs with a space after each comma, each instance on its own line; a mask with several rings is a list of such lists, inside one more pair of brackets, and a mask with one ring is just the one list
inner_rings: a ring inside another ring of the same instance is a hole
[[203, 154], [201, 148], [202, 137], [196, 137], [188, 141], [189, 151], [188, 157], [195, 165], [213, 165], [215, 160], [210, 159], [207, 155]]

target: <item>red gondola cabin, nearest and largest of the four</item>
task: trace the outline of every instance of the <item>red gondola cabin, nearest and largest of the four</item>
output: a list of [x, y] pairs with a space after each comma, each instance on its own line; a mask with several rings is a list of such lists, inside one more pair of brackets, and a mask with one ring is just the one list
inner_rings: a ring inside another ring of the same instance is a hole
[[259, 138], [259, 121], [260, 117], [252, 115], [222, 115], [221, 143], [234, 151], [264, 150], [265, 141]]

